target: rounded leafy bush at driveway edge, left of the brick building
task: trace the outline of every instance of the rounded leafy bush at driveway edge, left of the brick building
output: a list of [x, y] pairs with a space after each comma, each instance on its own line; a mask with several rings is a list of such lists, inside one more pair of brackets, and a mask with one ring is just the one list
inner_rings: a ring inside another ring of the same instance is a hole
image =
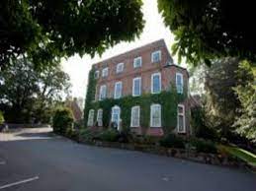
[[52, 119], [53, 132], [65, 135], [67, 129], [72, 129], [73, 122], [72, 111], [69, 108], [58, 108], [55, 110]]

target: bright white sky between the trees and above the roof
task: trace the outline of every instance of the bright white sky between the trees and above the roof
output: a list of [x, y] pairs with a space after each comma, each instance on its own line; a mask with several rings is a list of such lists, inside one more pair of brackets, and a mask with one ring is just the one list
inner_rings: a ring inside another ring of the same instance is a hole
[[[88, 74], [94, 63], [161, 38], [165, 40], [170, 51], [174, 36], [163, 24], [163, 19], [157, 10], [157, 0], [143, 0], [142, 12], [145, 27], [139, 38], [135, 39], [133, 42], [121, 42], [106, 50], [101, 57], [96, 55], [92, 58], [89, 55], [84, 55], [81, 58], [79, 55], [74, 55], [67, 60], [63, 59], [61, 61], [62, 69], [70, 77], [72, 85], [71, 96], [85, 97]], [[174, 57], [174, 61], [177, 63], [176, 57]], [[182, 66], [186, 67], [185, 64], [182, 64]]]

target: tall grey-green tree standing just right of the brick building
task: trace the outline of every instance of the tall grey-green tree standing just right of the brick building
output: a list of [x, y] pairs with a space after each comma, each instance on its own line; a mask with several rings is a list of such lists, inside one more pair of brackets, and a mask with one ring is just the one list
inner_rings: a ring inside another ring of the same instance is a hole
[[215, 61], [206, 71], [207, 117], [209, 124], [221, 130], [222, 136], [227, 136], [231, 130], [230, 127], [238, 116], [237, 108], [241, 106], [233, 87], [242, 84], [242, 79], [246, 76], [236, 75], [238, 66], [238, 59], [224, 58]]

